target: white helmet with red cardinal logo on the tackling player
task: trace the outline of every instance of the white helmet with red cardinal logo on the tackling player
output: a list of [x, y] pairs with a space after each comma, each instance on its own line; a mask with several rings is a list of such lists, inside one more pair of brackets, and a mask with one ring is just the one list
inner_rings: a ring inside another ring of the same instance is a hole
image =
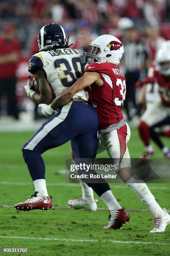
[[116, 65], [124, 53], [124, 48], [120, 40], [115, 36], [102, 35], [97, 37], [90, 44], [89, 52], [83, 55], [84, 63], [92, 62], [112, 62]]

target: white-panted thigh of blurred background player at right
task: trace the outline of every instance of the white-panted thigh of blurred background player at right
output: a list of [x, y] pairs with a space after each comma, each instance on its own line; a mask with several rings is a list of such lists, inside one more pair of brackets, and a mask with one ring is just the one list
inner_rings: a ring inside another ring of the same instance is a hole
[[140, 120], [152, 126], [158, 123], [158, 121], [165, 119], [167, 115], [167, 108], [162, 104], [161, 100], [159, 100], [148, 106]]

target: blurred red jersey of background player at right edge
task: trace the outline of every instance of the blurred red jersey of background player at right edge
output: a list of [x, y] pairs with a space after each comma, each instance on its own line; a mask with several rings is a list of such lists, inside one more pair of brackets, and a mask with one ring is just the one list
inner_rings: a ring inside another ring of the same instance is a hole
[[159, 85], [158, 91], [163, 105], [170, 107], [170, 77], [163, 76], [155, 67], [153, 77], [146, 77], [143, 80], [143, 84], [153, 84], [155, 82]]

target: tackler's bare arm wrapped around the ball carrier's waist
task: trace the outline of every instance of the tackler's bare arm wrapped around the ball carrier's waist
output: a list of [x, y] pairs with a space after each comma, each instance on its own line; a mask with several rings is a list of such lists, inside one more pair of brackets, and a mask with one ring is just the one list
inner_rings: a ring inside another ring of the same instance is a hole
[[71, 87], [61, 92], [55, 100], [51, 103], [52, 110], [57, 110], [60, 106], [63, 106], [70, 102], [72, 97], [79, 91], [85, 89], [91, 84], [95, 83], [97, 86], [102, 86], [103, 81], [97, 72], [86, 72], [80, 77]]

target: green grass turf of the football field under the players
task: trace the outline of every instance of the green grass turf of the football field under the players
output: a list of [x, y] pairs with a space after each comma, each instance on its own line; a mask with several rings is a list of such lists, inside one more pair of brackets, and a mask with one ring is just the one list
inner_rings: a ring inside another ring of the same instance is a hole
[[[14, 205], [34, 193], [21, 147], [31, 132], [0, 133], [0, 205]], [[166, 140], [166, 139], [165, 139]], [[170, 146], [170, 141], [168, 146]], [[128, 144], [131, 157], [139, 157], [143, 145], [136, 128], [131, 129]], [[157, 151], [154, 157], [161, 158]], [[67, 207], [67, 200], [78, 198], [78, 184], [66, 184], [65, 159], [70, 158], [70, 143], [47, 151], [46, 180], [53, 206]], [[100, 157], [107, 157], [104, 152]], [[170, 209], [170, 184], [150, 184], [151, 191], [162, 207]], [[163, 234], [150, 234], [153, 228], [150, 212], [125, 184], [111, 184], [112, 192], [120, 205], [128, 211], [131, 222], [121, 230], [103, 230], [108, 212], [98, 210], [52, 209], [49, 212], [34, 210], [17, 212], [12, 207], [0, 207], [0, 247], [28, 248], [28, 253], [9, 255], [169, 255], [170, 226]], [[105, 207], [99, 200], [98, 207]], [[4, 253], [0, 251], [0, 255]]]

